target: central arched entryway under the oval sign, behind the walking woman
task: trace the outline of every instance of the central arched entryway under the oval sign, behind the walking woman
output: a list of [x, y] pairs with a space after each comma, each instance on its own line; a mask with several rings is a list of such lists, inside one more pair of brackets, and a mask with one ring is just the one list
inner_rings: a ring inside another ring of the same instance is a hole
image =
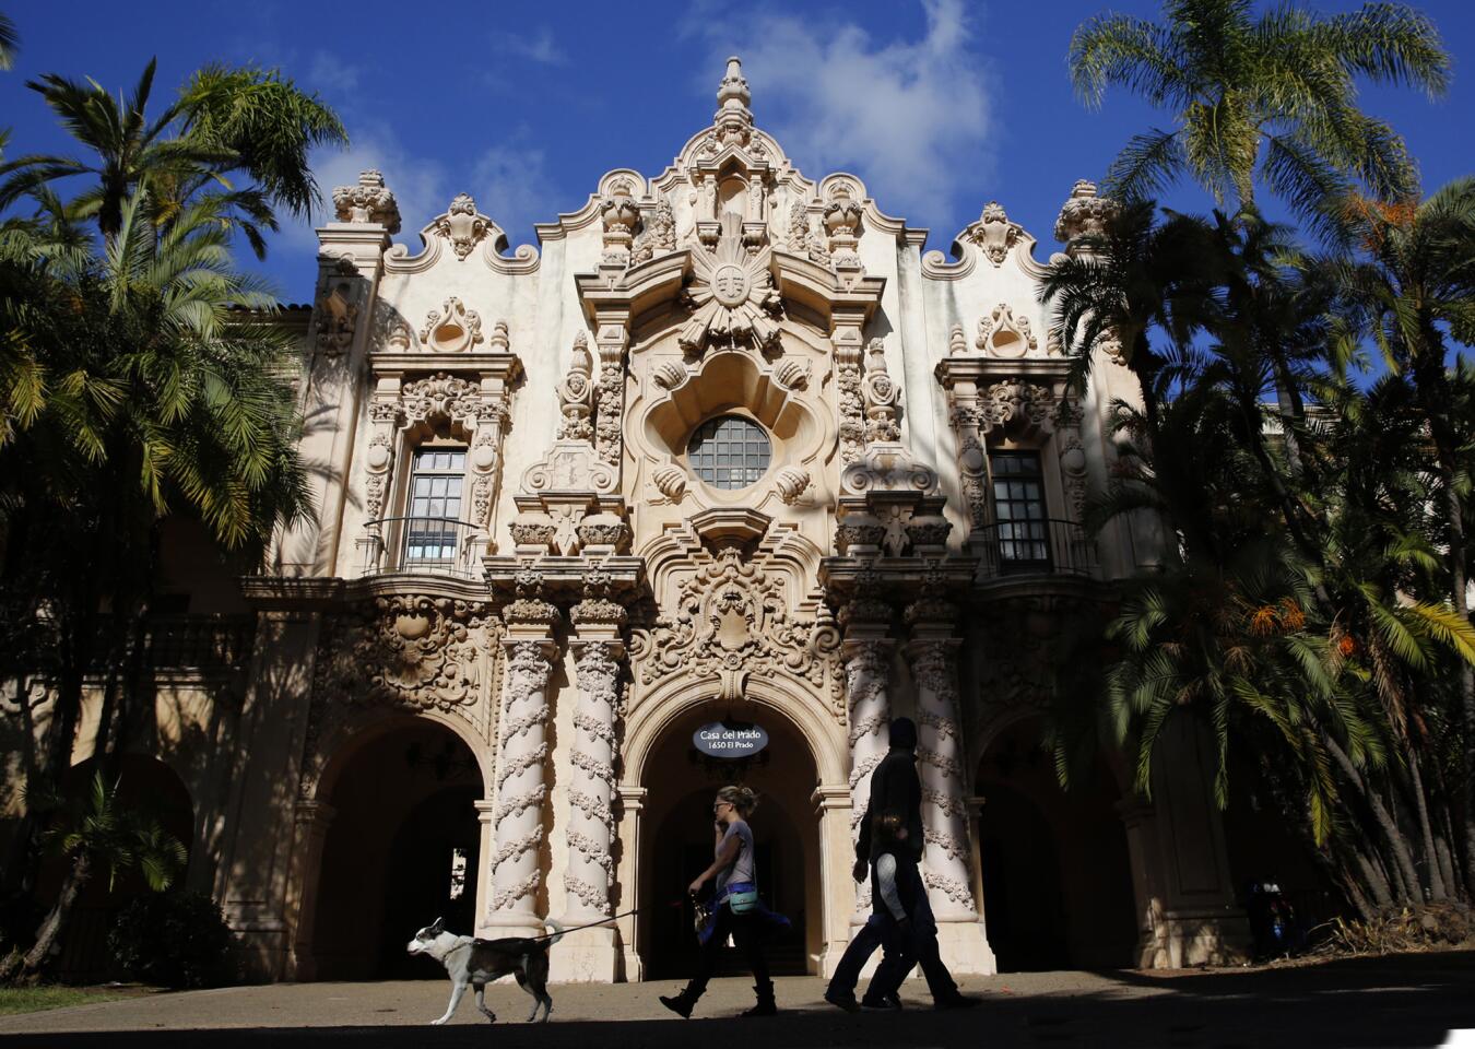
[[[766, 761], [739, 766], [704, 760], [692, 745], [692, 733], [720, 717], [708, 707], [676, 719], [643, 764], [637, 943], [648, 980], [692, 972], [696, 937], [692, 910], [683, 900], [686, 887], [711, 863], [712, 798], [729, 782], [760, 795], [751, 820], [760, 893], [794, 922], [788, 934], [770, 943], [774, 974], [817, 971], [823, 950], [819, 813], [811, 797], [819, 780], [810, 748], [785, 717], [764, 710], [745, 717], [768, 732]], [[736, 952], [729, 955], [718, 974], [742, 972]]]

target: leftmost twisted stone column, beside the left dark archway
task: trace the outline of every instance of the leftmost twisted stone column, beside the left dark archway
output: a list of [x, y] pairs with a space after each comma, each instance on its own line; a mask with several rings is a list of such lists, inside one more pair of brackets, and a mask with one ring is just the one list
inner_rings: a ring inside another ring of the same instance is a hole
[[524, 569], [516, 578], [518, 598], [503, 609], [507, 631], [503, 671], [502, 738], [497, 754], [496, 851], [491, 869], [491, 903], [485, 925], [496, 935], [541, 935], [534, 912], [543, 844], [543, 801], [547, 786], [543, 766], [549, 702], [547, 686], [558, 645], [553, 626], [558, 608], [541, 596], [541, 577]]

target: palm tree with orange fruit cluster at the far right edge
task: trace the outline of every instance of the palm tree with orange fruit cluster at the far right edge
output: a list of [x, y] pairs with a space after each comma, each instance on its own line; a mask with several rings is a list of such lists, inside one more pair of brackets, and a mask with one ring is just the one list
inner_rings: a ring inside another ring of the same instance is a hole
[[[1370, 335], [1394, 375], [1413, 384], [1428, 426], [1443, 499], [1443, 546], [1454, 614], [1469, 621], [1469, 401], [1448, 344], [1475, 344], [1475, 177], [1456, 179], [1419, 204], [1347, 198], [1342, 221], [1358, 236], [1353, 261], [1325, 260], [1341, 285], [1342, 359]], [[1465, 882], [1475, 894], [1475, 667], [1459, 670], [1465, 720]]]

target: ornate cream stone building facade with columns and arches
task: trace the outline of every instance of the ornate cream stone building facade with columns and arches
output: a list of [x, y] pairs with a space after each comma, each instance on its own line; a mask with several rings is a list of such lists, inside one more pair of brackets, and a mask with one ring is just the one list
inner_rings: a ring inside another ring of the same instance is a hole
[[[375, 171], [333, 202], [289, 313], [320, 512], [226, 609], [249, 659], [161, 677], [140, 745], [263, 977], [397, 971], [442, 909], [481, 935], [636, 909], [558, 944], [555, 978], [678, 971], [673, 904], [738, 778], [795, 918], [780, 965], [827, 974], [895, 714], [954, 972], [1238, 950], [1192, 721], [1150, 800], [1112, 754], [1063, 792], [1038, 747], [1071, 637], [1158, 540], [1080, 525], [1137, 394], [1111, 347], [1071, 388], [1050, 263], [1003, 207], [923, 254], [755, 127], [736, 59], [665, 171], [608, 173], [537, 251], [465, 193], [407, 249]], [[1077, 183], [1062, 249], [1112, 208]], [[699, 755], [724, 719], [767, 749]]]

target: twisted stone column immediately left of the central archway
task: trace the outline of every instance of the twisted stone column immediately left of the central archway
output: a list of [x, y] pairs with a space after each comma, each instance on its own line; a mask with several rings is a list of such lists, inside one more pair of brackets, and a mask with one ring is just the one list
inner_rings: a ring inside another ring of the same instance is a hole
[[[615, 720], [620, 716], [621, 630], [625, 609], [609, 598], [609, 572], [584, 574], [584, 599], [569, 611], [578, 702], [569, 754], [568, 866], [563, 872], [563, 924], [583, 925], [614, 913]], [[620, 969], [612, 927], [581, 929], [555, 947], [553, 978], [614, 983]]]

